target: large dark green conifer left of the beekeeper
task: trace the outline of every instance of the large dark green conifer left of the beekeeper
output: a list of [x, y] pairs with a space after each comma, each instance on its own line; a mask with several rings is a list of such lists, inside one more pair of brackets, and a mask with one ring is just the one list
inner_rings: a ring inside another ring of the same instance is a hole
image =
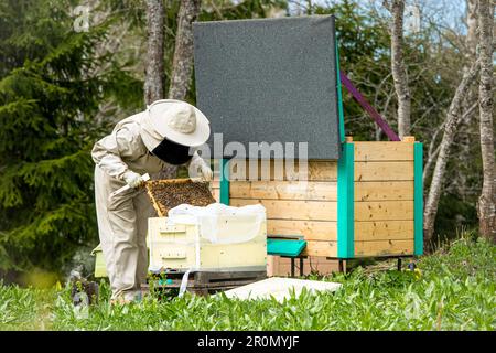
[[0, 4], [0, 270], [60, 271], [97, 239], [90, 148], [110, 77], [105, 26], [73, 29], [68, 1]]

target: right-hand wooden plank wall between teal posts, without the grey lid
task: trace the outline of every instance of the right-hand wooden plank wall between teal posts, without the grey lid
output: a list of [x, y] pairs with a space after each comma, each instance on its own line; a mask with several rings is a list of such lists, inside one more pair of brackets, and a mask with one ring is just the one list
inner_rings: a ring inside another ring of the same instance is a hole
[[413, 143], [354, 146], [355, 256], [413, 254]]

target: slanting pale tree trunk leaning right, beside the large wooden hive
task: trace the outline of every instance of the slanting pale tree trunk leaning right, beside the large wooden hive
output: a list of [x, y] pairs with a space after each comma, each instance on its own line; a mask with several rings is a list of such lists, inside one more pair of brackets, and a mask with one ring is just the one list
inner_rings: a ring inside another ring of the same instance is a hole
[[438, 160], [435, 162], [434, 171], [432, 173], [432, 182], [429, 189], [429, 194], [425, 201], [425, 208], [423, 212], [423, 236], [425, 248], [429, 248], [430, 240], [434, 233], [434, 221], [438, 213], [439, 199], [441, 196], [441, 189], [443, 185], [444, 172], [446, 171], [448, 159], [450, 158], [450, 150], [456, 133], [457, 126], [461, 120], [461, 108], [463, 99], [478, 73], [479, 63], [476, 61], [468, 71], [463, 74], [462, 82], [456, 88], [455, 95], [451, 101], [448, 110], [444, 135], [441, 140]]

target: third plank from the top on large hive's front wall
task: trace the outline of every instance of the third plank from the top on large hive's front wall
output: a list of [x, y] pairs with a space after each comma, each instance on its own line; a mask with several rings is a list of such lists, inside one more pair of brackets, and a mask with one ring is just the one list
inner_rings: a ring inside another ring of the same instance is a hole
[[337, 220], [337, 202], [230, 199], [230, 205], [238, 207], [257, 203], [261, 203], [267, 208], [268, 218], [303, 221]]

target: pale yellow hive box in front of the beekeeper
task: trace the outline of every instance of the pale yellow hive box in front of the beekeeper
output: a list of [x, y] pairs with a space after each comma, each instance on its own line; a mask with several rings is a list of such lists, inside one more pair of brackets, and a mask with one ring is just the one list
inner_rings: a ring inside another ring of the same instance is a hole
[[[192, 224], [191, 216], [184, 222], [169, 217], [148, 220], [148, 247], [151, 267], [163, 269], [202, 270], [266, 270], [267, 222], [263, 221], [257, 235], [249, 242], [212, 243], [201, 236], [200, 225]], [[231, 224], [234, 236], [242, 237], [242, 224]]]

